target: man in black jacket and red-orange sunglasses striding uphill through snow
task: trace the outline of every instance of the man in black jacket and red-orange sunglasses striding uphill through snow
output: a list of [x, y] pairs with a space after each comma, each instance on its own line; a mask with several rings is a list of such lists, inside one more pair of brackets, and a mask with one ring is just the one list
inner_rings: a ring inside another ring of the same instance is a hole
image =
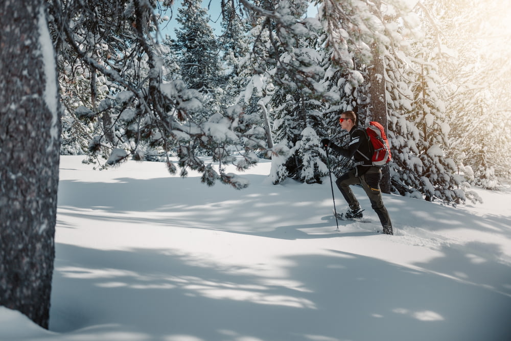
[[[353, 111], [344, 111], [339, 119], [341, 128], [350, 133], [351, 141], [347, 148], [342, 148], [333, 144], [329, 139], [321, 140], [321, 144], [330, 147], [340, 155], [352, 158], [355, 161], [355, 167], [341, 175], [335, 184], [346, 199], [350, 209], [344, 214], [349, 219], [362, 218], [362, 209], [360, 203], [350, 189], [350, 185], [361, 185], [369, 197], [373, 210], [378, 214], [383, 226], [383, 233], [392, 234], [392, 223], [387, 209], [383, 205], [383, 199], [380, 191], [380, 181], [382, 172], [380, 167], [373, 166], [371, 163], [372, 151], [369, 146], [369, 140], [364, 128], [357, 125], [357, 115]], [[366, 155], [366, 156], [364, 156]]]

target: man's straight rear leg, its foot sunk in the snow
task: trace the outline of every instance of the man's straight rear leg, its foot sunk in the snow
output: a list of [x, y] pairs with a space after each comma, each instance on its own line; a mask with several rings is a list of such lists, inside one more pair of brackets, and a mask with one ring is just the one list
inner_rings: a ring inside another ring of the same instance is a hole
[[383, 204], [383, 198], [380, 191], [380, 181], [382, 172], [379, 168], [371, 167], [364, 175], [361, 176], [362, 187], [371, 201], [371, 207], [378, 214], [380, 222], [383, 226], [383, 233], [392, 234], [392, 222], [387, 209]]

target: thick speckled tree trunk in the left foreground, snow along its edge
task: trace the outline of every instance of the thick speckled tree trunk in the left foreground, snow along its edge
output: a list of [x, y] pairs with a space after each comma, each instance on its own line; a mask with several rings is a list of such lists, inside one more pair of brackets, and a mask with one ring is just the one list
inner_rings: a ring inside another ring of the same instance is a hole
[[43, 4], [0, 3], [0, 305], [48, 328], [60, 104]]

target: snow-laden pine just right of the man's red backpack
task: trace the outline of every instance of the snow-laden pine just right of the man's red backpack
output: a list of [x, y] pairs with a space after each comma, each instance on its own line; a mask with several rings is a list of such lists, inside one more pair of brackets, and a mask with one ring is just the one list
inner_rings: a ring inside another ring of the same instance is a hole
[[[417, 70], [407, 76], [416, 77], [416, 81], [400, 89], [401, 94], [410, 98], [397, 96], [408, 107], [401, 105], [398, 111], [393, 111], [392, 149], [401, 151], [394, 153], [394, 161], [399, 167], [393, 170], [400, 174], [397, 184], [419, 189], [427, 200], [464, 201], [466, 197], [459, 189], [461, 178], [455, 174], [455, 163], [445, 155], [445, 150], [450, 148], [449, 125], [444, 102], [438, 93], [435, 64], [422, 58], [415, 58], [413, 62]], [[404, 85], [402, 82], [398, 84]], [[398, 89], [395, 89], [393, 96], [397, 93]]]

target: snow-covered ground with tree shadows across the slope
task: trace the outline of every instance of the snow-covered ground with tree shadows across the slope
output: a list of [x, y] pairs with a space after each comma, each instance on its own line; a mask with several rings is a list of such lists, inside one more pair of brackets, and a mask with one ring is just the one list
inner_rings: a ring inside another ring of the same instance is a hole
[[237, 191], [83, 158], [60, 160], [50, 331], [0, 307], [2, 340], [511, 339], [509, 188], [457, 208], [384, 195], [387, 236], [360, 188], [372, 222], [336, 232], [328, 177], [273, 186], [269, 161]]

